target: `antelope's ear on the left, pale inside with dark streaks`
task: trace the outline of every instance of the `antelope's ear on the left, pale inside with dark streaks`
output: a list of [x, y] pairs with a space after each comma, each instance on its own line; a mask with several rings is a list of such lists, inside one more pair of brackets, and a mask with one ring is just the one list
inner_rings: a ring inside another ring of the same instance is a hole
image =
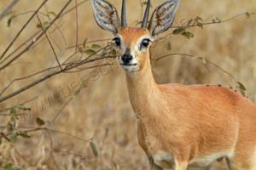
[[92, 8], [96, 23], [113, 34], [119, 30], [119, 15], [116, 8], [105, 0], [92, 0]]

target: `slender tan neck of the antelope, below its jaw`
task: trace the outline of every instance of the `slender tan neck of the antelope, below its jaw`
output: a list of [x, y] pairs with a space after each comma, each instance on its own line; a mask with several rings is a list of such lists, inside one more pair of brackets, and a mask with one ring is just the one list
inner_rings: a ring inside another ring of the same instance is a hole
[[126, 73], [127, 88], [131, 106], [139, 119], [154, 118], [159, 116], [159, 105], [163, 99], [158, 85], [154, 81], [151, 72], [149, 58], [145, 61], [143, 68], [131, 76]]

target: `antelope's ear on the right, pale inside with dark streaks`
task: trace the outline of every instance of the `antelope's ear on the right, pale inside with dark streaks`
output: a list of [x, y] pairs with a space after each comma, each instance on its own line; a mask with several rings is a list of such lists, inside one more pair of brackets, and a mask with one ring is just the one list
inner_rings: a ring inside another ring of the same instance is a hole
[[172, 26], [177, 7], [178, 0], [168, 0], [166, 3], [162, 3], [154, 9], [148, 25], [148, 30], [152, 37], [167, 31]]

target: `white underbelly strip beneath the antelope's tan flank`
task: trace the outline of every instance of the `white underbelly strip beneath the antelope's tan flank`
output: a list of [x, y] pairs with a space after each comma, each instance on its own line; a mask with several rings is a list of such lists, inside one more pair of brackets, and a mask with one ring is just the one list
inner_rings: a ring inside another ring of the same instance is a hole
[[189, 166], [192, 167], [207, 167], [209, 166], [213, 161], [216, 161], [218, 158], [221, 157], [231, 157], [231, 152], [218, 152], [207, 156], [200, 156], [192, 159], [189, 161]]

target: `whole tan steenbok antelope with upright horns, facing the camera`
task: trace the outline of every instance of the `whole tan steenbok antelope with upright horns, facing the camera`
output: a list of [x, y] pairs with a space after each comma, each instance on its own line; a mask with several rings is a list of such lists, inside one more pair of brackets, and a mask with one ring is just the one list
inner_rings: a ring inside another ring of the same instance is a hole
[[[119, 64], [125, 70], [138, 142], [153, 169], [208, 167], [225, 157], [230, 169], [256, 169], [256, 107], [230, 88], [215, 85], [157, 84], [149, 47], [172, 25], [178, 0], [155, 8], [150, 1], [141, 28], [128, 27], [125, 0], [121, 20], [106, 0], [92, 0], [96, 23], [113, 33]], [[148, 26], [147, 26], [148, 24]]]

